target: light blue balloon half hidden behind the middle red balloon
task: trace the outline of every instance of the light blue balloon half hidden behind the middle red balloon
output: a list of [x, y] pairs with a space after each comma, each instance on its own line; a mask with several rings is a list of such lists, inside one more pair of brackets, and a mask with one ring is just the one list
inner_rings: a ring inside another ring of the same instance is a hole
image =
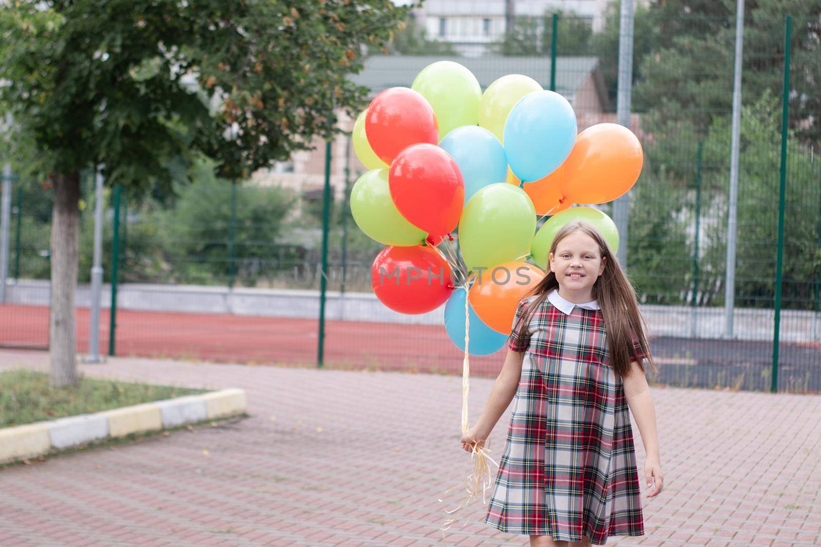
[[507, 180], [507, 156], [496, 135], [479, 125], [462, 125], [439, 146], [456, 160], [465, 180], [465, 203], [477, 190]]

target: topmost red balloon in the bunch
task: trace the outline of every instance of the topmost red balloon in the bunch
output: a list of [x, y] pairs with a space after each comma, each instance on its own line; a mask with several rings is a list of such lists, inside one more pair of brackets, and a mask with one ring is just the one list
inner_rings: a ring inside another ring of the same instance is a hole
[[388, 165], [411, 144], [439, 142], [433, 107], [420, 93], [402, 87], [385, 89], [370, 102], [365, 134], [370, 148]]

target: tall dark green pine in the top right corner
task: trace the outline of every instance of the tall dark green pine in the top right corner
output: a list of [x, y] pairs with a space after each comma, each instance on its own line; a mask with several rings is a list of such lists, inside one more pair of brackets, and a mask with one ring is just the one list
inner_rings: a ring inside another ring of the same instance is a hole
[[[732, 110], [735, 0], [657, 0], [647, 16], [657, 29], [638, 62], [638, 109], [652, 107], [649, 130], [689, 116], [701, 132], [715, 116]], [[805, 142], [821, 136], [821, 0], [752, 0], [745, 3], [742, 98], [765, 91], [780, 96], [784, 67], [784, 17], [794, 16], [791, 35], [790, 125]], [[637, 33], [638, 34], [638, 33]]]

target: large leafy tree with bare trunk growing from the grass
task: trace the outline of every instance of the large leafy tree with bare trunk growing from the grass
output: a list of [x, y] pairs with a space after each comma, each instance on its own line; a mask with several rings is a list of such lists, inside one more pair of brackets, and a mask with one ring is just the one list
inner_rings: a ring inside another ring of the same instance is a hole
[[[367, 9], [364, 9], [367, 7]], [[367, 89], [347, 75], [410, 7], [390, 0], [133, 2], [0, 7], [0, 109], [20, 153], [54, 185], [49, 324], [52, 385], [76, 384], [74, 302], [80, 170], [108, 185], [170, 189], [195, 153], [246, 178], [337, 132]], [[198, 88], [198, 89], [197, 89]]]

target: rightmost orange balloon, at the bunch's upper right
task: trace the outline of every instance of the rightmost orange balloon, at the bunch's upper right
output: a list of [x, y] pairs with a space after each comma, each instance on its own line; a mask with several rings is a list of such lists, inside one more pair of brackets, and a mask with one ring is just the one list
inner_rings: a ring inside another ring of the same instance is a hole
[[562, 164], [562, 194], [574, 203], [608, 203], [635, 185], [644, 153], [639, 139], [623, 125], [591, 125], [576, 136]]

